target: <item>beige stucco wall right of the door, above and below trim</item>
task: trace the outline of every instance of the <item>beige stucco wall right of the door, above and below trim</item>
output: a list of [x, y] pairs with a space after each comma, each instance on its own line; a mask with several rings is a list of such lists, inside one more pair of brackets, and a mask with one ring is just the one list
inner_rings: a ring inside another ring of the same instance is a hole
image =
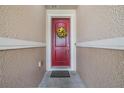
[[[124, 6], [79, 6], [77, 41], [124, 36]], [[124, 87], [124, 51], [77, 47], [77, 71], [87, 87]]]

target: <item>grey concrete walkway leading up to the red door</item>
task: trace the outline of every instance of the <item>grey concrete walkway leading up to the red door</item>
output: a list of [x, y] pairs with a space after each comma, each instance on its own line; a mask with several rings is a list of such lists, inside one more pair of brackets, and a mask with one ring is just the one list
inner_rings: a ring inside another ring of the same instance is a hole
[[41, 88], [84, 88], [80, 76], [76, 72], [69, 72], [70, 78], [50, 78], [51, 72], [46, 72], [39, 87]]

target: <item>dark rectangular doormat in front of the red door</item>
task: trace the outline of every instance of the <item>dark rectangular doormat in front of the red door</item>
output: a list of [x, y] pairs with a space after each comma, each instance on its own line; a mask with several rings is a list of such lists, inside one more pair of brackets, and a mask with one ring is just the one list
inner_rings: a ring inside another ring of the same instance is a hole
[[69, 78], [69, 71], [52, 71], [51, 78]]

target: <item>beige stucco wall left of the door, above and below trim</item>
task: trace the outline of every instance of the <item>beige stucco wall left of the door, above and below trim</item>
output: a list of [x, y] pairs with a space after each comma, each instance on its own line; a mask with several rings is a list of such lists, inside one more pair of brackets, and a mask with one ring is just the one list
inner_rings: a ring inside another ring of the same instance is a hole
[[[45, 42], [45, 7], [0, 6], [0, 36]], [[44, 72], [45, 48], [0, 51], [0, 87], [37, 87]]]

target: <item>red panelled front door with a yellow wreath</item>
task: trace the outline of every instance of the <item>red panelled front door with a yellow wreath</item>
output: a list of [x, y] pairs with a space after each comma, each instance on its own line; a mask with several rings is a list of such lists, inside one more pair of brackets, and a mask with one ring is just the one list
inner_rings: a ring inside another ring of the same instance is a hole
[[70, 18], [52, 18], [52, 66], [70, 66]]

